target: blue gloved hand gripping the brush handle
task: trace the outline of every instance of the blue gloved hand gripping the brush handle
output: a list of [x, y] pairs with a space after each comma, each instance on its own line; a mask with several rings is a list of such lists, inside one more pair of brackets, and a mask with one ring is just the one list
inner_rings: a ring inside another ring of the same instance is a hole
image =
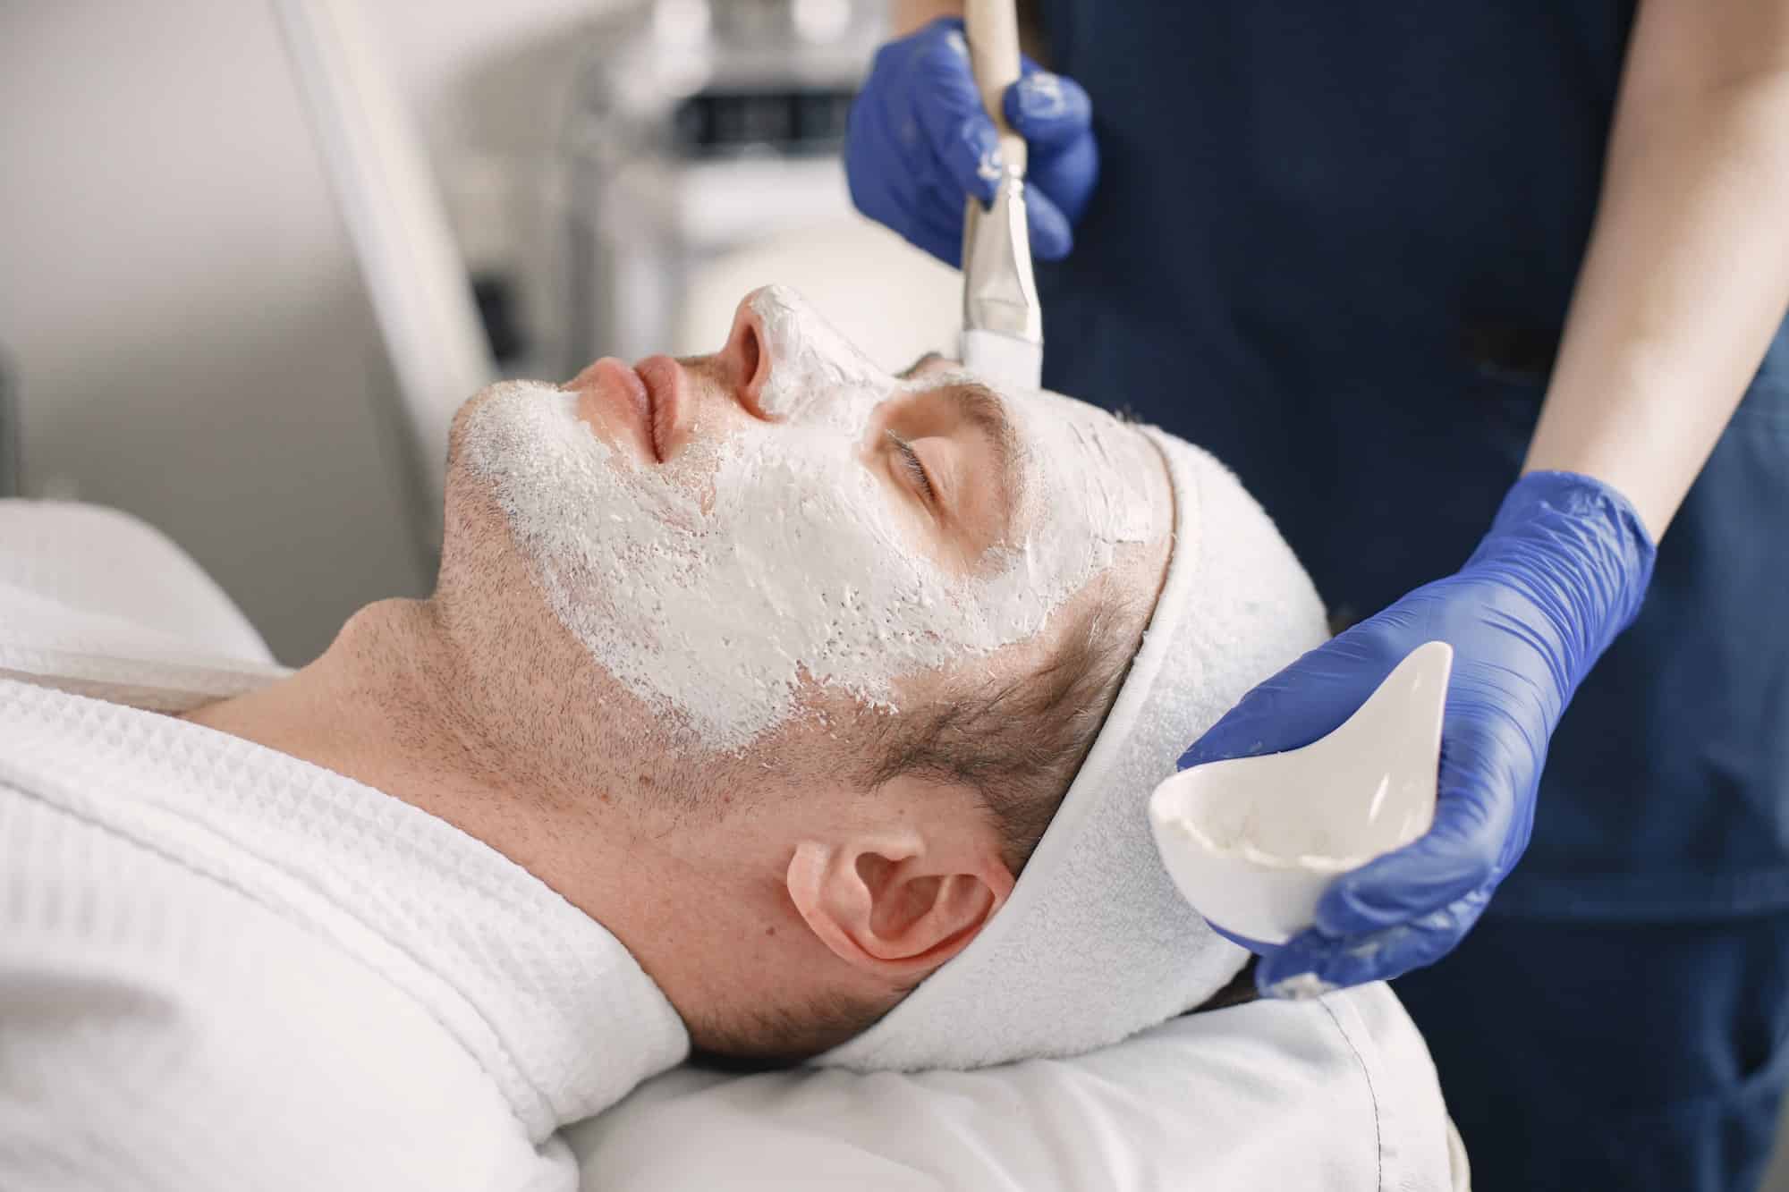
[[[1030, 251], [1068, 256], [1100, 174], [1093, 104], [1081, 84], [1020, 59], [1002, 102], [1025, 138]], [[1000, 141], [982, 109], [962, 21], [941, 18], [877, 52], [844, 136], [852, 202], [946, 265], [962, 256], [962, 202], [995, 197]]]

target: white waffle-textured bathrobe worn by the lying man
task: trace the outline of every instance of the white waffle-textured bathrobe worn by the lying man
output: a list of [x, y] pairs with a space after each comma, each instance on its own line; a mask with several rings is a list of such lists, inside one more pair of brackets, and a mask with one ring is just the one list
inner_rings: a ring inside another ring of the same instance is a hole
[[628, 950], [417, 807], [66, 691], [277, 673], [140, 523], [0, 503], [0, 1188], [574, 1188], [560, 1128], [689, 1049]]

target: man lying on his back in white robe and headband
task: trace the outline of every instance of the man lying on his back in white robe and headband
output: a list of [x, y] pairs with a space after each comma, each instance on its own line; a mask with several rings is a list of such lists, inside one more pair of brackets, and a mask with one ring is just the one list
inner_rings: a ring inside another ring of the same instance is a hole
[[0, 521], [0, 1185], [571, 1187], [692, 1051], [973, 1069], [1238, 986], [1145, 800], [1324, 617], [1199, 449], [767, 288], [485, 390], [445, 490], [431, 598], [249, 682]]

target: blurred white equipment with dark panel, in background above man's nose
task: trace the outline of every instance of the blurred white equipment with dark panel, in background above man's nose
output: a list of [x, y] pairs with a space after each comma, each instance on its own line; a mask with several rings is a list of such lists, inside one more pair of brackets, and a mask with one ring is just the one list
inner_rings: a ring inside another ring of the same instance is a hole
[[592, 39], [565, 129], [571, 372], [662, 351], [705, 263], [850, 218], [839, 147], [880, 0], [651, 0]]

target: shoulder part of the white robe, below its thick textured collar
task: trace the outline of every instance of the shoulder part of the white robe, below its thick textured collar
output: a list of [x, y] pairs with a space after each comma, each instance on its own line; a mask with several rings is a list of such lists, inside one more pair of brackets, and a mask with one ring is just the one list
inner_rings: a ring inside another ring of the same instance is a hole
[[562, 1165], [419, 1000], [227, 881], [4, 784], [0, 856], [0, 1185], [73, 1163], [134, 1187], [517, 1187]]

